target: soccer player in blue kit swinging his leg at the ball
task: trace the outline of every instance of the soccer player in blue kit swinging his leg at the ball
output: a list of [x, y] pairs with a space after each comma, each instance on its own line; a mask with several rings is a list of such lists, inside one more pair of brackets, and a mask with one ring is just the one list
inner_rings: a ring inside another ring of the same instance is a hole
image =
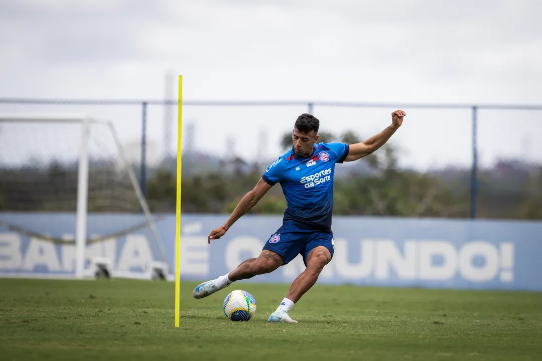
[[192, 296], [207, 297], [237, 280], [273, 272], [301, 254], [305, 271], [293, 281], [286, 298], [268, 319], [272, 322], [297, 323], [288, 316], [288, 311], [314, 285], [324, 266], [333, 257], [331, 216], [335, 163], [351, 162], [375, 152], [401, 126], [405, 115], [403, 110], [393, 111], [389, 127], [361, 143], [346, 145], [318, 143], [319, 120], [312, 115], [301, 114], [295, 121], [292, 149], [269, 165], [228, 220], [209, 234], [208, 243], [221, 238], [276, 183], [282, 186], [288, 205], [282, 227], [269, 237], [258, 258], [244, 260], [235, 270], [198, 285]]

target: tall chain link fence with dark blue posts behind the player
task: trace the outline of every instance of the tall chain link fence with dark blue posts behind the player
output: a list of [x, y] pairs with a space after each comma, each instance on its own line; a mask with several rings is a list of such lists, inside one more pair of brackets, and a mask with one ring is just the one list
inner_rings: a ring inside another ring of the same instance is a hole
[[[286, 152], [302, 113], [320, 119], [324, 140], [352, 141], [380, 132], [399, 108], [407, 116], [388, 145], [337, 166], [335, 214], [542, 219], [542, 106], [470, 104], [185, 101], [183, 212], [231, 211]], [[0, 114], [111, 121], [153, 211], [175, 212], [176, 101], [0, 99]], [[21, 166], [28, 141], [17, 145]], [[254, 212], [286, 206], [280, 187], [264, 199]]]

